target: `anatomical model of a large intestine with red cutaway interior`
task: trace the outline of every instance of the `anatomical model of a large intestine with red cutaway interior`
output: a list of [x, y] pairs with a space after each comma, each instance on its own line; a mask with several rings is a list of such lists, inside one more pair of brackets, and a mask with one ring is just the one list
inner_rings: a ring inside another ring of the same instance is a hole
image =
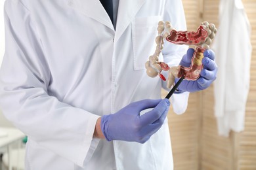
[[[162, 80], [166, 80], [161, 71], [169, 71], [167, 88], [175, 82], [176, 78], [183, 77], [186, 80], [197, 80], [203, 68], [202, 59], [205, 49], [209, 49], [212, 39], [215, 37], [217, 29], [214, 24], [202, 22], [198, 27], [198, 31], [176, 31], [170, 22], [158, 23], [158, 37], [156, 37], [156, 51], [150, 56], [146, 62], [146, 73], [150, 77], [160, 76]], [[195, 52], [191, 59], [190, 67], [177, 66], [169, 67], [166, 63], [158, 61], [158, 56], [163, 49], [163, 42], [166, 39], [174, 44], [186, 44], [190, 48], [194, 48]]]

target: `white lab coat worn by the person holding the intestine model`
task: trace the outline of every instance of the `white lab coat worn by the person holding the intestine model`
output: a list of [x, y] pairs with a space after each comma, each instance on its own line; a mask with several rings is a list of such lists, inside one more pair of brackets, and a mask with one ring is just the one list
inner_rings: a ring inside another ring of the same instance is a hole
[[[99, 116], [160, 98], [144, 68], [160, 20], [186, 30], [181, 1], [120, 0], [116, 31], [98, 0], [6, 1], [0, 103], [28, 135], [26, 170], [173, 168], [167, 121], [144, 144], [93, 138]], [[168, 43], [163, 58], [185, 52]], [[187, 99], [174, 95], [175, 112]]]

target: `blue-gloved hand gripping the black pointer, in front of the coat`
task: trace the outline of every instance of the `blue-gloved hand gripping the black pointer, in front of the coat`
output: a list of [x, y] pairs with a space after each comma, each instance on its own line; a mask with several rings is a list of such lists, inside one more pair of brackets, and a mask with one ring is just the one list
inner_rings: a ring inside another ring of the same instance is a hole
[[[115, 114], [102, 116], [100, 127], [107, 141], [135, 141], [145, 143], [160, 129], [170, 102], [168, 99], [145, 99], [131, 103]], [[145, 109], [153, 108], [142, 114]]]

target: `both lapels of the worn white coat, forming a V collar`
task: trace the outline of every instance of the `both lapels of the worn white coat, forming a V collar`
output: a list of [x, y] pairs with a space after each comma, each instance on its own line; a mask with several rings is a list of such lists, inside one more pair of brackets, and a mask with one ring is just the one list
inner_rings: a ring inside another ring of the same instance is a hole
[[[145, 1], [146, 0], [119, 0], [115, 35], [116, 42], [131, 23]], [[99, 0], [69, 0], [68, 5], [115, 31], [106, 10], [104, 10], [104, 7], [102, 7]]]

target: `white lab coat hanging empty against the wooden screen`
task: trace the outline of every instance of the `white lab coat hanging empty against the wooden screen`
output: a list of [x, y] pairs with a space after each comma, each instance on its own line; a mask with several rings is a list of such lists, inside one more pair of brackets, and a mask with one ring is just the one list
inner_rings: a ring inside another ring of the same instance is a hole
[[218, 76], [215, 80], [215, 116], [219, 135], [244, 130], [249, 92], [251, 27], [241, 0], [220, 2], [219, 30], [213, 43]]

